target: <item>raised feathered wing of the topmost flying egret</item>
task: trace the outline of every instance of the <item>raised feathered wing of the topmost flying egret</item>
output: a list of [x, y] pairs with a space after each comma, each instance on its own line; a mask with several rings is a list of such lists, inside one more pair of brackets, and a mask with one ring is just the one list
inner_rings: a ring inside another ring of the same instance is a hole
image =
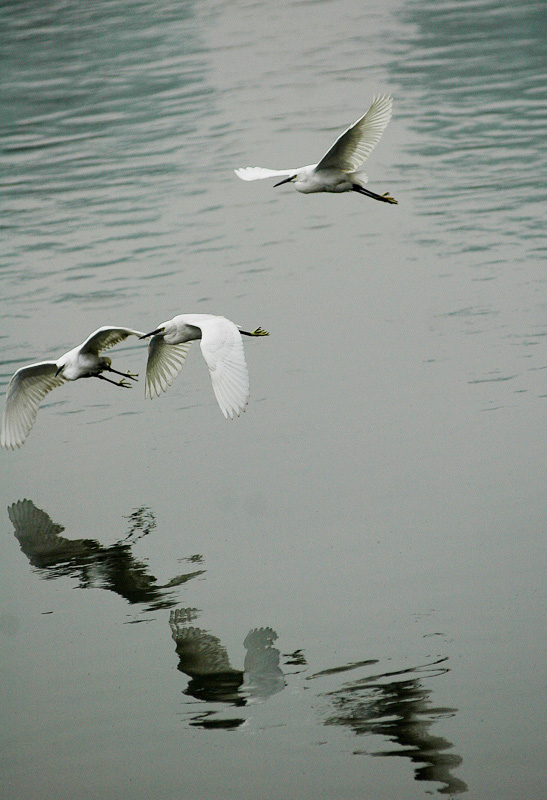
[[374, 97], [367, 113], [338, 137], [316, 169], [331, 167], [343, 172], [355, 172], [380, 141], [391, 119], [392, 102], [391, 95], [388, 94]]

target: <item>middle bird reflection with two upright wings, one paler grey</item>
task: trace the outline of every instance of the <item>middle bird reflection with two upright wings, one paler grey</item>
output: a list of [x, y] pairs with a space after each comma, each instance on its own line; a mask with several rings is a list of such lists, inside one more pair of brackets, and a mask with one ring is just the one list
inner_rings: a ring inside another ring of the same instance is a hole
[[[169, 625], [179, 657], [177, 669], [190, 681], [184, 694], [207, 703], [243, 707], [250, 702], [267, 700], [285, 687], [279, 666], [279, 650], [273, 646], [277, 633], [271, 628], [254, 628], [243, 645], [247, 650], [243, 670], [230, 665], [226, 648], [213, 634], [189, 626], [194, 609], [171, 611]], [[223, 709], [224, 710], [224, 709]], [[216, 710], [195, 715], [191, 725], [201, 728], [237, 728], [244, 716], [220, 718]]]

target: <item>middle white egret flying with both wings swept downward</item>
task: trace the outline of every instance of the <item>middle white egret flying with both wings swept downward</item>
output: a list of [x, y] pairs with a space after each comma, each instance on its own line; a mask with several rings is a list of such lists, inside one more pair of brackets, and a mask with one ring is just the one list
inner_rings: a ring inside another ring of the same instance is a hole
[[242, 331], [226, 317], [213, 314], [179, 314], [162, 322], [141, 339], [151, 336], [146, 365], [145, 396], [160, 396], [173, 383], [188, 355], [190, 343], [201, 339], [201, 352], [209, 367], [215, 397], [226, 417], [245, 410], [249, 399], [249, 373], [245, 363], [245, 336], [268, 336], [262, 328]]

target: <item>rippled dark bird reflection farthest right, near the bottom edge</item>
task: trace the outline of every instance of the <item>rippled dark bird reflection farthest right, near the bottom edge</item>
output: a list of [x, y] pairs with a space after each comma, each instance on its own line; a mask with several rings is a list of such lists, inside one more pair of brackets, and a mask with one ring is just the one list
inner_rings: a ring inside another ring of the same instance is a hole
[[[397, 749], [367, 752], [355, 750], [375, 756], [401, 756], [409, 758], [419, 766], [415, 771], [417, 781], [440, 783], [440, 794], [455, 795], [467, 791], [467, 785], [455, 778], [451, 771], [462, 763], [462, 758], [447, 753], [452, 743], [442, 736], [435, 736], [430, 729], [438, 719], [454, 716], [457, 709], [432, 707], [429, 696], [431, 689], [423, 685], [424, 678], [431, 678], [448, 672], [447, 661], [439, 658], [429, 664], [411, 669], [397, 670], [385, 674], [370, 675], [353, 683], [347, 683], [340, 689], [329, 692], [335, 713], [327, 718], [326, 725], [343, 725], [350, 728], [358, 736], [367, 734], [382, 736], [394, 744]], [[354, 669], [364, 664], [376, 664], [376, 661], [362, 662], [334, 670], [325, 670], [309, 676], [318, 678]]]

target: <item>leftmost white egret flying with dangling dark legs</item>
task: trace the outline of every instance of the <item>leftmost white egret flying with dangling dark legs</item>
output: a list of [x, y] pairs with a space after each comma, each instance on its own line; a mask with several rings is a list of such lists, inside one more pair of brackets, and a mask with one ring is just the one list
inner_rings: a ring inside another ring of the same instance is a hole
[[[46, 394], [66, 381], [77, 381], [78, 378], [100, 378], [113, 383], [114, 386], [130, 388], [126, 378], [137, 380], [131, 372], [118, 372], [110, 365], [111, 359], [101, 356], [102, 350], [113, 347], [128, 336], [142, 336], [142, 331], [131, 328], [98, 328], [85, 342], [69, 350], [57, 361], [39, 361], [21, 367], [13, 375], [6, 393], [6, 405], [2, 416], [2, 434], [0, 443], [6, 450], [21, 447], [34, 425], [38, 407]], [[113, 372], [122, 379], [113, 381], [101, 375], [102, 372]]]

